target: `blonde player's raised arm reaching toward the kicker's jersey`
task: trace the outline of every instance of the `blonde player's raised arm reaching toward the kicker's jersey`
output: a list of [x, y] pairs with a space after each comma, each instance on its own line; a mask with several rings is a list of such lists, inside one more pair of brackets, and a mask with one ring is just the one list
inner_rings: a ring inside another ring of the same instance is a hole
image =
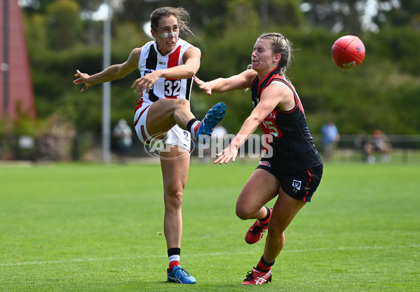
[[248, 69], [241, 74], [233, 75], [229, 78], [218, 78], [208, 82], [205, 82], [194, 76], [194, 81], [199, 88], [205, 91], [205, 93], [212, 95], [212, 91], [222, 93], [225, 91], [232, 91], [234, 89], [248, 88], [256, 76], [256, 71]]

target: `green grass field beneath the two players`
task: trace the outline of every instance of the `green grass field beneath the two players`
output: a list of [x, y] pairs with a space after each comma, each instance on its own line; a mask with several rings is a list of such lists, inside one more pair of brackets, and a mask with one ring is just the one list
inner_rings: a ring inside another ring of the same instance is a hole
[[420, 290], [420, 165], [396, 162], [326, 164], [273, 281], [241, 286], [264, 248], [235, 215], [255, 166], [191, 164], [181, 263], [195, 285], [166, 281], [160, 166], [0, 166], [0, 291]]

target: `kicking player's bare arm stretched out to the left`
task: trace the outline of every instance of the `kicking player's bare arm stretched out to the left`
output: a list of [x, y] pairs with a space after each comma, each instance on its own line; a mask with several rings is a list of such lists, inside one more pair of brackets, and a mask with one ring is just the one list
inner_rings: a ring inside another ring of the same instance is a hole
[[90, 86], [101, 84], [116, 79], [126, 77], [137, 68], [142, 48], [135, 48], [128, 56], [128, 60], [122, 64], [111, 65], [97, 74], [89, 75], [76, 70], [74, 77], [78, 77], [73, 81], [75, 85], [84, 84], [80, 92], [86, 91]]

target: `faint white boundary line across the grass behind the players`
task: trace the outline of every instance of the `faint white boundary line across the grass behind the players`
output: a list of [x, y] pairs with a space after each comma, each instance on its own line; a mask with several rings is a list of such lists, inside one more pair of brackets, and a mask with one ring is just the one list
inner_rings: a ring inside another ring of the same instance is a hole
[[[308, 253], [311, 251], [358, 251], [358, 250], [369, 250], [369, 249], [394, 249], [394, 248], [419, 248], [420, 244], [409, 244], [407, 246], [353, 246], [353, 247], [338, 247], [338, 248], [311, 248], [311, 249], [285, 249], [282, 253]], [[248, 255], [253, 254], [255, 251], [243, 251], [234, 253], [236, 255]], [[231, 255], [231, 252], [224, 253], [199, 253], [193, 255], [183, 255], [184, 258], [189, 257], [209, 257], [219, 255]], [[0, 263], [0, 267], [10, 267], [19, 265], [48, 265], [48, 264], [63, 264], [63, 263], [88, 263], [88, 262], [102, 262], [107, 260], [141, 260], [147, 258], [166, 258], [166, 255], [138, 255], [131, 257], [120, 257], [120, 258], [75, 258], [73, 260], [45, 260], [39, 262], [22, 262], [22, 263]]]

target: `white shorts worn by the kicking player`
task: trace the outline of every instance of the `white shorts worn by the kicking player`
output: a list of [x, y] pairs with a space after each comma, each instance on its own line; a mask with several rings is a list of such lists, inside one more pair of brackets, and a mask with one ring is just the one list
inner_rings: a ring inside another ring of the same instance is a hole
[[[149, 112], [150, 104], [141, 107], [135, 112], [134, 121], [137, 121], [135, 124], [135, 131], [139, 140], [145, 144], [150, 145], [155, 139], [149, 135], [146, 126], [147, 113]], [[185, 150], [191, 151], [191, 133], [187, 130], [182, 130], [178, 125], [170, 128], [168, 132], [165, 133], [163, 139], [156, 139], [156, 141], [163, 140], [164, 144], [175, 145], [181, 147]]]

